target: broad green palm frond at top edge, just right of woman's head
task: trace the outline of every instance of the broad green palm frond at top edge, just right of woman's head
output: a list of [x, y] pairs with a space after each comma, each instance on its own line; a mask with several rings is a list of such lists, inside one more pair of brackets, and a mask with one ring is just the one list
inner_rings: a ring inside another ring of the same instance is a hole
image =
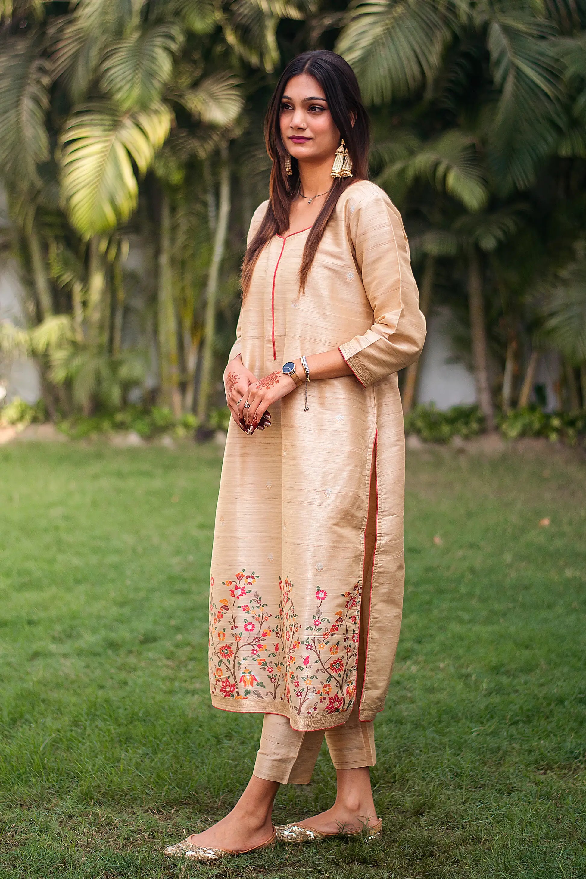
[[367, 0], [351, 8], [336, 52], [351, 64], [366, 101], [408, 97], [436, 76], [452, 39], [442, 6], [435, 0]]

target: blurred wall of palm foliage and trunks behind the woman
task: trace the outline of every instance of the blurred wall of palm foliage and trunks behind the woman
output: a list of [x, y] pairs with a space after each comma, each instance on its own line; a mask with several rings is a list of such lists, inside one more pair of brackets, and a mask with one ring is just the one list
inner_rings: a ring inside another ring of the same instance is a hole
[[[474, 424], [525, 411], [550, 349], [560, 408], [586, 408], [586, 0], [0, 0], [0, 16], [0, 247], [26, 291], [0, 356], [34, 357], [50, 418], [130, 401], [209, 424], [267, 197], [264, 108], [313, 48], [358, 75], [372, 178], [402, 211], [423, 310], [449, 306]], [[416, 381], [415, 364], [408, 413]]]

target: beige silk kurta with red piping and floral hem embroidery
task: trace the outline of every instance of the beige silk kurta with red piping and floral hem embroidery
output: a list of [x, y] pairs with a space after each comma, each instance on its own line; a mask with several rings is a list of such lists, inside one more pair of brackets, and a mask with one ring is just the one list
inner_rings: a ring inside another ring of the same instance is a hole
[[271, 407], [264, 432], [248, 436], [230, 422], [209, 659], [216, 708], [282, 714], [296, 730], [319, 730], [344, 723], [354, 706], [361, 607], [360, 719], [384, 706], [404, 573], [397, 370], [421, 352], [425, 320], [401, 215], [378, 186], [358, 181], [345, 190], [300, 294], [307, 233], [274, 236], [264, 247], [230, 358], [241, 353], [260, 378], [339, 347], [354, 374], [310, 382], [307, 412], [303, 387], [294, 390]]

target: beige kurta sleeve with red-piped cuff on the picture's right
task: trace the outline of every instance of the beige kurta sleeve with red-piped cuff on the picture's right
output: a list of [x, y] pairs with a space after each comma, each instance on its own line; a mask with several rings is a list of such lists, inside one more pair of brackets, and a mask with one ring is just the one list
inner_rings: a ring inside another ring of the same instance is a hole
[[417, 359], [425, 318], [401, 214], [382, 191], [348, 208], [348, 231], [374, 323], [363, 336], [340, 345], [340, 353], [365, 387]]

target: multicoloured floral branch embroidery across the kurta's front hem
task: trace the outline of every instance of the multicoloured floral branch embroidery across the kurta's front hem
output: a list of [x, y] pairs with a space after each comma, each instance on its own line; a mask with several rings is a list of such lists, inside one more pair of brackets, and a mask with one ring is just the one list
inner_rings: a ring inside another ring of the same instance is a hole
[[230, 597], [210, 604], [213, 692], [228, 699], [287, 701], [297, 715], [350, 710], [356, 699], [361, 584], [340, 594], [332, 621], [323, 607], [328, 592], [317, 589], [313, 623], [303, 637], [293, 582], [279, 578], [279, 612], [271, 623], [252, 588], [256, 582], [254, 571], [240, 570], [222, 584]]

